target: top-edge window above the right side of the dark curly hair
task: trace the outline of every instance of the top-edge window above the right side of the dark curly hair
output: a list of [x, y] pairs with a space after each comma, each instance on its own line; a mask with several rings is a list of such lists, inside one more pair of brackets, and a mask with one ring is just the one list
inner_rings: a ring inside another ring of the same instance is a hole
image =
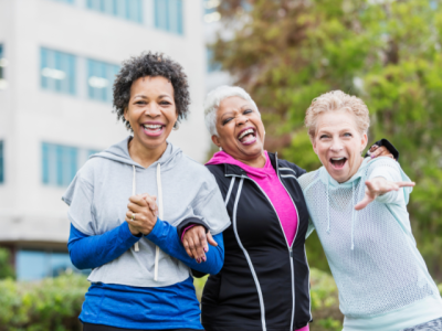
[[155, 26], [182, 34], [182, 0], [155, 0]]

